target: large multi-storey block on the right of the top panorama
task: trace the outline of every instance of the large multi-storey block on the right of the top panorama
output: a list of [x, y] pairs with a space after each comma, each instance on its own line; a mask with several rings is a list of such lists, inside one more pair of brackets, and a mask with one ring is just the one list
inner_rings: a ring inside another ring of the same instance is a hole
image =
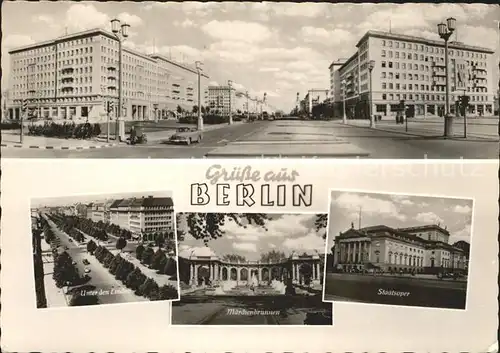
[[[345, 99], [348, 118], [368, 118], [369, 62], [372, 71], [372, 113], [394, 116], [405, 101], [407, 116], [443, 115], [445, 106], [444, 41], [368, 31], [356, 52], [338, 69], [330, 67], [335, 102]], [[468, 113], [492, 115], [495, 96], [493, 54], [488, 48], [449, 43], [450, 112], [459, 115], [458, 96], [468, 95]], [[345, 80], [345, 85], [342, 81]]]

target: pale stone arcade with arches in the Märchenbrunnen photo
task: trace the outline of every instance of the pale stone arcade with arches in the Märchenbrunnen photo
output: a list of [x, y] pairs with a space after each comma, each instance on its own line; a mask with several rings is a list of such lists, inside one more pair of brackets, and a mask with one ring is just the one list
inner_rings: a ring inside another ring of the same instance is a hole
[[[179, 254], [180, 279], [191, 286], [207, 283], [233, 281], [237, 285], [247, 285], [252, 278], [262, 284], [273, 279], [291, 278], [293, 283], [304, 283], [305, 274], [310, 274], [311, 283], [320, 284], [323, 268], [320, 266], [322, 255], [293, 253], [281, 262], [225, 261], [215, 254], [202, 255], [191, 253]], [[185, 270], [181, 271], [181, 267]]]

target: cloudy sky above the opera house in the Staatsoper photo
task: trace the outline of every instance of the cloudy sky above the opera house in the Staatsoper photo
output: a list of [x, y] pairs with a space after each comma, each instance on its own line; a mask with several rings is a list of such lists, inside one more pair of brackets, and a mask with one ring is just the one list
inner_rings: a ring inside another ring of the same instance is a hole
[[328, 222], [331, 248], [339, 232], [361, 227], [386, 225], [393, 228], [440, 224], [450, 232], [449, 243], [465, 240], [470, 244], [473, 200], [435, 196], [376, 194], [332, 191]]

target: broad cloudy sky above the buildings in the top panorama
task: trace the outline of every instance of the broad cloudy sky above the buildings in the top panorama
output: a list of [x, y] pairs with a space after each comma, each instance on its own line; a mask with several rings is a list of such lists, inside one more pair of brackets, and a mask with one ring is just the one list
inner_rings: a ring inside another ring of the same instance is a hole
[[[309, 89], [329, 89], [328, 66], [350, 57], [367, 30], [388, 31], [391, 23], [393, 33], [439, 39], [436, 25], [449, 16], [459, 41], [496, 51], [496, 82], [500, 7], [486, 4], [6, 1], [2, 52], [66, 31], [109, 29], [118, 17], [131, 25], [131, 48], [200, 60], [213, 84], [232, 80], [253, 96], [266, 92], [269, 104], [289, 111], [297, 92], [303, 98]], [[2, 55], [4, 72], [8, 66]]]

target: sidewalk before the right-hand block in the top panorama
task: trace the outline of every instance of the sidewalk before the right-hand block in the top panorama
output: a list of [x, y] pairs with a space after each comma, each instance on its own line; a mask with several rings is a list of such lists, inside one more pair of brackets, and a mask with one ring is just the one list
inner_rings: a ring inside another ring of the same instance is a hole
[[[343, 125], [341, 122], [339, 122], [338, 124]], [[366, 119], [348, 120], [346, 125], [360, 128], [370, 128], [370, 121]], [[434, 137], [444, 139], [443, 126], [443, 121], [441, 121], [441, 124], [439, 124], [435, 120], [408, 120], [408, 131], [406, 131], [406, 123], [396, 124], [394, 121], [382, 120], [375, 123], [374, 129], [379, 131], [405, 134], [409, 136]], [[474, 124], [468, 124], [467, 126], [469, 127], [469, 129], [467, 129], [468, 131], [466, 139], [464, 139], [463, 137], [463, 119], [461, 121], [455, 122], [455, 124], [453, 125], [453, 136], [447, 139], [462, 141], [498, 141], [498, 129], [496, 128], [496, 125], [478, 124], [474, 127]], [[491, 126], [491, 128], [486, 131], [485, 126]], [[481, 128], [483, 129], [483, 131], [472, 131], [473, 127], [475, 129]]]

